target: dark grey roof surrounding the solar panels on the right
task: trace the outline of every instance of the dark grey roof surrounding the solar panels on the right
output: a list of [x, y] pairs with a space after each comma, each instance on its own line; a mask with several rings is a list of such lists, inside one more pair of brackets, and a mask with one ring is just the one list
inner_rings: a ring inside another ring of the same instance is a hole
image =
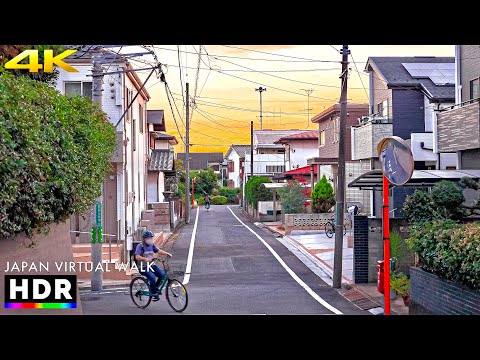
[[442, 100], [455, 100], [455, 86], [435, 85], [428, 77], [414, 78], [405, 69], [402, 63], [455, 63], [454, 57], [412, 56], [412, 57], [370, 57], [366, 69], [377, 69], [387, 81], [388, 87], [423, 86], [431, 97]]

